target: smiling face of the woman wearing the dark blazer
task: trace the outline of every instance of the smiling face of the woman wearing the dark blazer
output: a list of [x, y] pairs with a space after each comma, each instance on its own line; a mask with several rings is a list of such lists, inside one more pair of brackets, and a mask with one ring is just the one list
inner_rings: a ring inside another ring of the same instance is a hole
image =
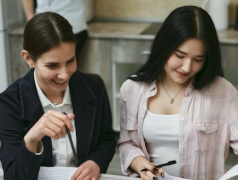
[[59, 97], [77, 69], [75, 44], [61, 43], [42, 54], [36, 62], [30, 60], [30, 64], [35, 68], [36, 79], [43, 93], [48, 98]]

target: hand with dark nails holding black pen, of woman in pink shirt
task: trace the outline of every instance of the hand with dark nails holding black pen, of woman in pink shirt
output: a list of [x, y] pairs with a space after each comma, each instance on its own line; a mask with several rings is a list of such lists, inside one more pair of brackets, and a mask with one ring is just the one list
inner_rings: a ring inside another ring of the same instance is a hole
[[[157, 180], [156, 174], [161, 176], [162, 173], [162, 175], [164, 175], [164, 170], [163, 168], [159, 168], [157, 171], [154, 171], [155, 165], [156, 164], [147, 161], [143, 156], [138, 156], [132, 161], [130, 168], [137, 172], [142, 180], [148, 180], [148, 178]], [[148, 171], [141, 171], [145, 168], [148, 169]]]

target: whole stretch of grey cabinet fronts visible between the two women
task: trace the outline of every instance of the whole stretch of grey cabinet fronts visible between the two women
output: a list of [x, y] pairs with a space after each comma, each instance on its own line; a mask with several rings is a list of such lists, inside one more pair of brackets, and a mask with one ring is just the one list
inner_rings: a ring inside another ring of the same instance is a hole
[[109, 95], [113, 129], [120, 130], [120, 87], [147, 60], [151, 40], [90, 38], [87, 40], [78, 69], [99, 74]]

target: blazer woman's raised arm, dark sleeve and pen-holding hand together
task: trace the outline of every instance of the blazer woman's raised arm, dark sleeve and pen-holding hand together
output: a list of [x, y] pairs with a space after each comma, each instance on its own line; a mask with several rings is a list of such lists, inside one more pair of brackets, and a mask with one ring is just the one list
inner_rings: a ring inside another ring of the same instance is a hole
[[[21, 105], [18, 89], [9, 89], [8, 92], [0, 95], [0, 159], [4, 169], [4, 179], [37, 180], [39, 168], [44, 157], [44, 151], [35, 154], [39, 142], [46, 135], [56, 139], [65, 136], [66, 130], [64, 128], [66, 123], [63, 123], [63, 121], [65, 119], [68, 128], [71, 129], [70, 119], [74, 116], [69, 114], [66, 117], [62, 113], [58, 114], [58, 112], [49, 111], [26, 132], [26, 126], [23, 120], [20, 119]], [[61, 119], [55, 118], [55, 115], [61, 116]], [[55, 122], [55, 128], [53, 129], [58, 133], [47, 130], [47, 127], [53, 125], [52, 121]], [[63, 130], [60, 130], [59, 124], [62, 124]]]

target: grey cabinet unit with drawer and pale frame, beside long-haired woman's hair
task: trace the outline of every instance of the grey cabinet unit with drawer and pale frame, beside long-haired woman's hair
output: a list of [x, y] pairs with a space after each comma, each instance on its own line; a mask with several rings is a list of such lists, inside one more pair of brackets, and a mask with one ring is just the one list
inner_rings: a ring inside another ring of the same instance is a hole
[[112, 113], [113, 128], [120, 131], [120, 87], [148, 58], [151, 40], [112, 40]]

